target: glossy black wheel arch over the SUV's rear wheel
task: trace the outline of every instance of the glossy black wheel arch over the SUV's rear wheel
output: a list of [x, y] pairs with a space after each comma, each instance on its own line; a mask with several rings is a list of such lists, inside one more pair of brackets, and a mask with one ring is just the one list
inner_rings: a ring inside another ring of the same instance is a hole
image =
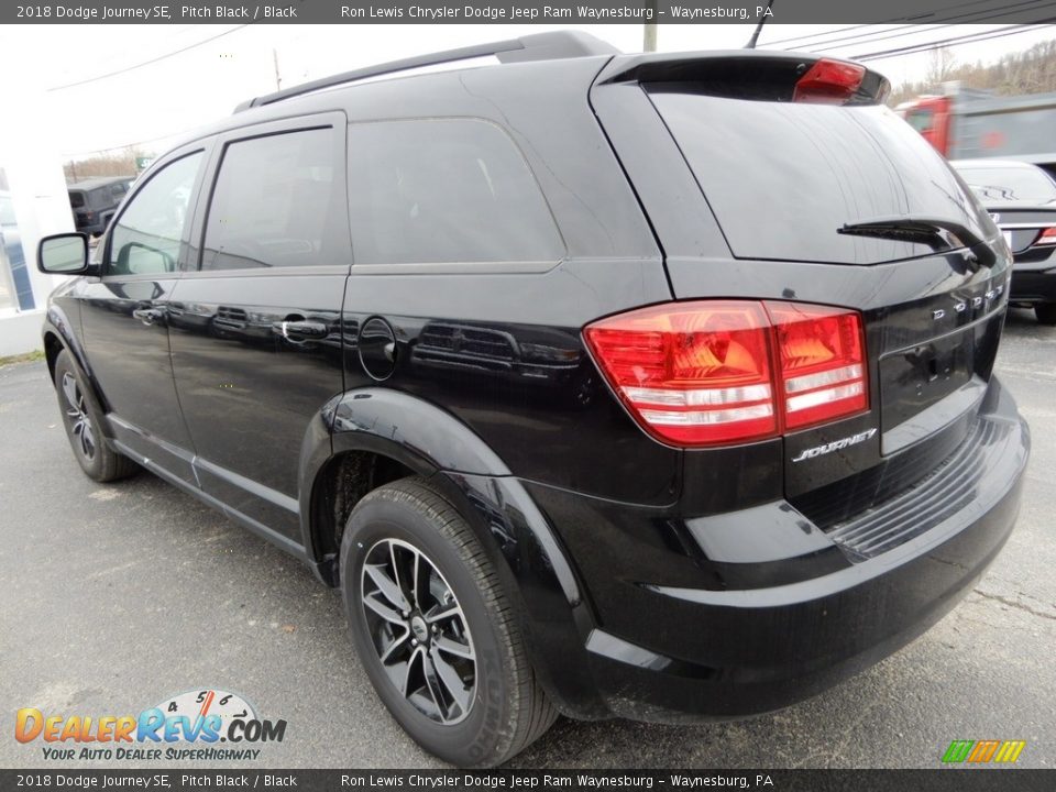
[[[360, 466], [361, 477], [351, 495], [337, 488], [349, 464]], [[435, 405], [398, 391], [363, 388], [331, 399], [312, 422], [301, 449], [300, 513], [317, 576], [340, 585], [338, 556], [352, 507], [404, 475], [422, 476], [439, 490], [481, 540], [558, 708], [579, 718], [609, 717], [584, 649], [593, 608], [549, 518], [483, 439]]]

